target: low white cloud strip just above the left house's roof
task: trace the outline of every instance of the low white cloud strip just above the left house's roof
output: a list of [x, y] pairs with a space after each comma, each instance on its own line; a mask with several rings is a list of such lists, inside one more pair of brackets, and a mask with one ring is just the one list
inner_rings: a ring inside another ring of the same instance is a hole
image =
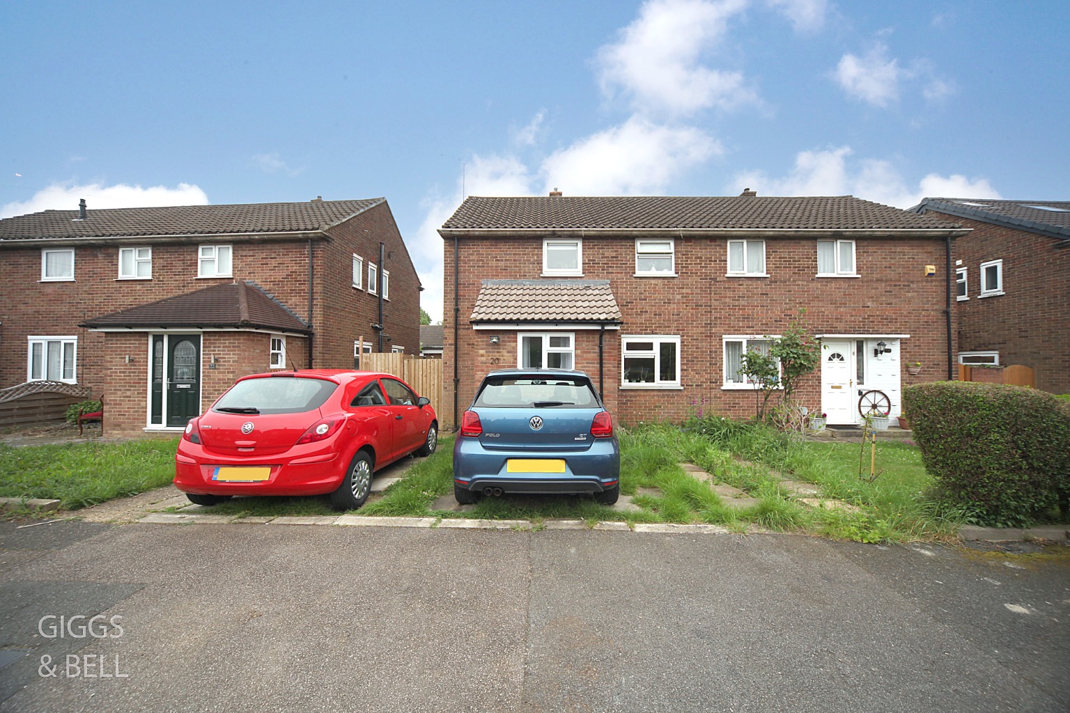
[[122, 183], [113, 186], [105, 186], [100, 183], [85, 185], [54, 183], [47, 188], [39, 190], [27, 201], [16, 201], [0, 207], [0, 218], [48, 210], [74, 211], [78, 207], [78, 199], [80, 198], [86, 199], [90, 210], [94, 207], [135, 208], [155, 205], [207, 205], [209, 203], [204, 191], [188, 183], [180, 183], [174, 188], [167, 186], [142, 188]]

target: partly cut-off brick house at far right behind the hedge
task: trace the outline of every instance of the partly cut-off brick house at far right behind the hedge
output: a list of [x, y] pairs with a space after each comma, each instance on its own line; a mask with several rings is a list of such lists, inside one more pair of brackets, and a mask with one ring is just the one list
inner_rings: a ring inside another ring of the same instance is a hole
[[973, 231], [954, 243], [959, 363], [1023, 365], [1070, 393], [1070, 202], [926, 198]]

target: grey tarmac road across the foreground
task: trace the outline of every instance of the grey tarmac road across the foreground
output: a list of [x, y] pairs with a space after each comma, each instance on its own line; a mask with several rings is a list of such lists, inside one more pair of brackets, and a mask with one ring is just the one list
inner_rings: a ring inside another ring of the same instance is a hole
[[[0, 523], [0, 711], [1070, 710], [1067, 558], [1011, 564], [793, 536]], [[102, 613], [106, 637], [77, 637]]]

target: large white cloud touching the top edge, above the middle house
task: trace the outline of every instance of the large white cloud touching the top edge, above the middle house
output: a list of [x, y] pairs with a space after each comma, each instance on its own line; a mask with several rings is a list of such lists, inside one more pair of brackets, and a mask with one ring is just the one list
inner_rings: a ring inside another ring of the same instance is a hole
[[649, 0], [615, 44], [599, 49], [602, 91], [610, 96], [621, 91], [637, 112], [668, 115], [756, 102], [740, 73], [701, 63], [747, 1]]

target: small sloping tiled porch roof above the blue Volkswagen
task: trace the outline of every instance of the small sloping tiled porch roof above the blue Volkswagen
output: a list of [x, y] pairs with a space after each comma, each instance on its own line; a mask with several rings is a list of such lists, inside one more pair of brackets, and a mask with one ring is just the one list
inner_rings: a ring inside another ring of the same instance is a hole
[[472, 322], [621, 322], [609, 280], [484, 280]]

